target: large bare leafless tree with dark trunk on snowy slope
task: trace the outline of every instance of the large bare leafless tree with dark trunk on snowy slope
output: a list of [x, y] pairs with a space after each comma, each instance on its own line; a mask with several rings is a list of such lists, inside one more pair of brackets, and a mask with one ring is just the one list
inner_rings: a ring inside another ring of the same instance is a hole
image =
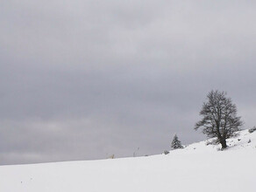
[[203, 127], [203, 134], [209, 138], [217, 137], [217, 142], [225, 148], [226, 139], [235, 136], [243, 122], [237, 116], [237, 106], [232, 104], [231, 98], [226, 97], [226, 93], [210, 91], [207, 99], [200, 112], [203, 119], [196, 123], [195, 129]]

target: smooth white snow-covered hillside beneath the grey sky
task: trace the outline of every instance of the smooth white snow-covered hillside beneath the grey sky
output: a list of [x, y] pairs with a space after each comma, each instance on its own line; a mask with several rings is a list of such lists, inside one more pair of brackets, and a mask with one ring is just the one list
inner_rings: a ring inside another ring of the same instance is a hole
[[167, 155], [0, 166], [0, 191], [256, 191], [256, 131], [242, 131], [224, 151], [206, 143]]

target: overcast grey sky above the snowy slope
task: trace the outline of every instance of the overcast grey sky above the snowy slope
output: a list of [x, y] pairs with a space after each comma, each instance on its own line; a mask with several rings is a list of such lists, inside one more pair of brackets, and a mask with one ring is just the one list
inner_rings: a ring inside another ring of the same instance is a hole
[[[256, 125], [255, 1], [3, 0], [0, 164], [160, 154], [206, 94]], [[139, 147], [139, 150], [138, 150]]]

